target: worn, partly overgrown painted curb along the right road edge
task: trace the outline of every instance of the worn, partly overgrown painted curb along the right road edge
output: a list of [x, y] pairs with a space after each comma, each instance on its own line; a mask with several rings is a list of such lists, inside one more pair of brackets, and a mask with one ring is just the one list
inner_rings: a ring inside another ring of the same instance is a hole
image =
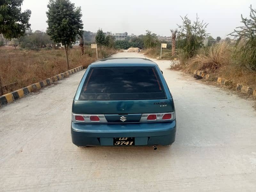
[[222, 85], [233, 85], [234, 87], [236, 87], [236, 90], [237, 91], [241, 91], [242, 93], [247, 93], [247, 94], [250, 94], [252, 95], [255, 99], [256, 99], [256, 89], [252, 89], [251, 87], [248, 87], [248, 86], [245, 86], [245, 85], [242, 85], [242, 84], [234, 84], [234, 82], [232, 82], [231, 80], [229, 79], [224, 79], [224, 78], [221, 78], [221, 77], [212, 77], [210, 74], [207, 74], [205, 71], [198, 71], [198, 70], [195, 70], [194, 72], [194, 75], [196, 76], [201, 76], [207, 80], [213, 80], [213, 81], [216, 81], [218, 84], [222, 84]]

